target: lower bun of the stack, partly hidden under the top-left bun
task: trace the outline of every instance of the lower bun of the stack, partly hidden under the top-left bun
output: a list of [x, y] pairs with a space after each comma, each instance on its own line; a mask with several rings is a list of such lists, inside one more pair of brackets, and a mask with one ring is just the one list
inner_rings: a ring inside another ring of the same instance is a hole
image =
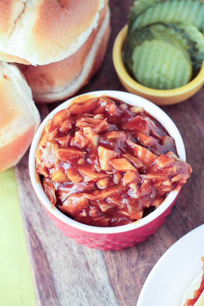
[[101, 9], [98, 26], [85, 43], [68, 58], [44, 66], [19, 64], [36, 102], [53, 102], [74, 95], [96, 73], [106, 53], [110, 34], [107, 1]]

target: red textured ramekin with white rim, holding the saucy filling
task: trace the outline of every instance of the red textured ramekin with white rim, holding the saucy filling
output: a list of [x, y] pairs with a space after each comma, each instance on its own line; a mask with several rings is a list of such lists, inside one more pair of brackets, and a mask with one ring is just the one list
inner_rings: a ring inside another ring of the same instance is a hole
[[80, 95], [76, 98], [69, 99], [54, 109], [41, 123], [32, 141], [30, 155], [29, 155], [29, 172], [35, 193], [46, 209], [48, 216], [54, 220], [57, 228], [62, 230], [65, 236], [73, 238], [77, 243], [85, 244], [90, 248], [98, 248], [101, 250], [118, 250], [122, 248], [131, 247], [141, 241], [144, 241], [151, 234], [155, 233], [158, 227], [165, 222], [165, 218], [169, 215], [172, 205], [174, 204], [179, 192], [173, 190], [161, 203], [161, 205], [146, 217], [136, 222], [115, 227], [97, 227], [85, 225], [67, 217], [61, 211], [53, 207], [43, 191], [42, 185], [39, 180], [39, 175], [35, 166], [35, 150], [41, 139], [47, 121], [53, 118], [59, 110], [65, 109], [69, 106], [73, 99], [85, 99], [88, 95], [89, 98], [100, 97], [106, 95], [128, 104], [142, 106], [144, 109], [156, 118], [161, 125], [169, 132], [176, 143], [178, 155], [181, 159], [185, 160], [185, 149], [181, 135], [176, 128], [173, 121], [165, 114], [158, 106], [147, 101], [146, 99], [123, 91], [94, 91], [85, 95]]

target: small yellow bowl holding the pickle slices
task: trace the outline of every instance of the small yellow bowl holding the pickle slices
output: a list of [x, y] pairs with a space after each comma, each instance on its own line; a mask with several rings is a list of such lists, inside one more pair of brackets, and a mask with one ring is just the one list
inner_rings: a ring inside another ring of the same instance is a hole
[[131, 93], [139, 95], [158, 105], [169, 105], [182, 102], [194, 95], [204, 83], [204, 62], [197, 76], [186, 85], [168, 90], [159, 90], [145, 87], [134, 79], [125, 70], [122, 60], [122, 49], [127, 36], [128, 26], [124, 26], [118, 33], [113, 45], [113, 64], [123, 86]]

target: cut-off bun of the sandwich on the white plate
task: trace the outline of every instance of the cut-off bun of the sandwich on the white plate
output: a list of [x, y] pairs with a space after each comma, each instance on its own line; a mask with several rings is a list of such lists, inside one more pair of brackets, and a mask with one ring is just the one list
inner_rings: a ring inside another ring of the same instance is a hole
[[[184, 306], [187, 299], [192, 299], [194, 291], [200, 287], [201, 280], [202, 280], [203, 271], [196, 276], [194, 281], [192, 282], [191, 286], [186, 290], [181, 306]], [[204, 291], [201, 293], [198, 300], [195, 302], [194, 306], [203, 306], [204, 305]]]

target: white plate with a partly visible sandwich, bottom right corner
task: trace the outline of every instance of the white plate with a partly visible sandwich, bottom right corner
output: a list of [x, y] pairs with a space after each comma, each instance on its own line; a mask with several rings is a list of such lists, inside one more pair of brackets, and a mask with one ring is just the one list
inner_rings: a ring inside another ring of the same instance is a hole
[[186, 289], [202, 271], [204, 224], [176, 241], [145, 281], [137, 306], [181, 306]]

